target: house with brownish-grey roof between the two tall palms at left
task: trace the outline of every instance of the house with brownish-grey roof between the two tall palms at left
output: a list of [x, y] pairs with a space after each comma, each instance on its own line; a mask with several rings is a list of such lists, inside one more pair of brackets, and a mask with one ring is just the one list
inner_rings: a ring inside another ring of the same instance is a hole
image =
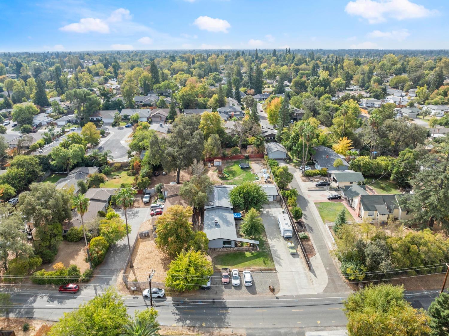
[[[88, 223], [92, 222], [95, 217], [97, 217], [98, 211], [105, 211], [109, 205], [109, 201], [112, 195], [117, 193], [119, 188], [90, 188], [86, 193], [85, 197], [89, 199], [89, 207], [87, 212], [83, 215], [84, 225], [88, 230]], [[76, 209], [72, 211], [72, 220], [69, 223], [62, 225], [62, 232], [66, 234], [70, 227], [81, 227], [81, 216], [78, 214]]]

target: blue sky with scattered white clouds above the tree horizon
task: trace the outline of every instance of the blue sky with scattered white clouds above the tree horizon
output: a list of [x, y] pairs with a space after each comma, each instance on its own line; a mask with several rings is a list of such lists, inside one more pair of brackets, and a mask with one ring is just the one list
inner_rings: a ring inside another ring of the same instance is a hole
[[447, 0], [3, 1], [0, 51], [449, 49]]

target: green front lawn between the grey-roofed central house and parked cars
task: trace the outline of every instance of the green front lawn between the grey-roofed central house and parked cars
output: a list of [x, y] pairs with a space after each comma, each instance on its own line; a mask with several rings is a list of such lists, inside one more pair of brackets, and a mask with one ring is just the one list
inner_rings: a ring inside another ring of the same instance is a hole
[[259, 251], [239, 251], [220, 254], [212, 259], [214, 268], [274, 267], [268, 243], [260, 240]]

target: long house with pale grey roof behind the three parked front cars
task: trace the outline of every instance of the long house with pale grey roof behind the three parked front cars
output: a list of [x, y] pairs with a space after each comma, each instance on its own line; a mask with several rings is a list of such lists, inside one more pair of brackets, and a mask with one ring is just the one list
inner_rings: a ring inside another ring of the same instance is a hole
[[214, 186], [208, 195], [209, 202], [204, 207], [203, 231], [209, 239], [209, 248], [234, 248], [237, 244], [259, 244], [258, 240], [244, 239], [237, 236], [234, 210], [229, 201], [229, 192], [235, 186]]

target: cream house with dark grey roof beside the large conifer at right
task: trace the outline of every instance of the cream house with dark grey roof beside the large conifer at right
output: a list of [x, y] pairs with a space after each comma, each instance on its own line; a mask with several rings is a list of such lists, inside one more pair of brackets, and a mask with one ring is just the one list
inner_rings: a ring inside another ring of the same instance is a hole
[[411, 211], [399, 204], [401, 194], [361, 195], [354, 206], [357, 216], [370, 222], [386, 223], [388, 218], [399, 220], [412, 218]]

